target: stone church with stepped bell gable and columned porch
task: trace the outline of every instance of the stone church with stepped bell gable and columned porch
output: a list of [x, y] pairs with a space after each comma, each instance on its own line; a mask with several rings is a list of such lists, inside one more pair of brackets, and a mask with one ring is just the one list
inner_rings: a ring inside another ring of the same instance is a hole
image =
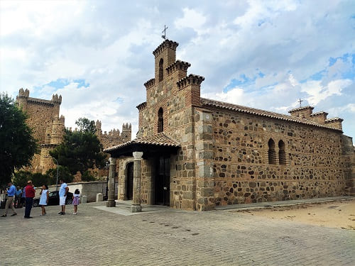
[[204, 99], [204, 77], [187, 75], [177, 47], [165, 40], [153, 51], [136, 138], [104, 150], [131, 211], [355, 195], [354, 146], [341, 118], [312, 106], [284, 115]]

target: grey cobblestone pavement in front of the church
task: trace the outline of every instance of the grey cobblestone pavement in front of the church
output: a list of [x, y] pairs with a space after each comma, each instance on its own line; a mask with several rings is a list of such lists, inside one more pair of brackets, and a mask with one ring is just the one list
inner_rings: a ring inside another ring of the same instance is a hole
[[48, 206], [48, 216], [33, 208], [33, 219], [24, 209], [0, 218], [0, 265], [355, 265], [355, 231], [228, 210], [94, 208], [104, 204], [81, 204], [77, 216]]

